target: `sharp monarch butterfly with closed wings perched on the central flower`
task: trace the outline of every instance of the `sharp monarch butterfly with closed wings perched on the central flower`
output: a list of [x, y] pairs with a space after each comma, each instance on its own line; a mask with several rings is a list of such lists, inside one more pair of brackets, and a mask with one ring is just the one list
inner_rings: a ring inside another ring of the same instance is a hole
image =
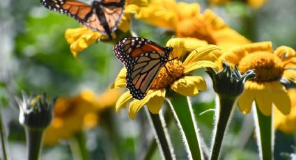
[[114, 54], [126, 67], [127, 89], [135, 99], [143, 99], [173, 47], [161, 47], [145, 38], [131, 37], [114, 46]]

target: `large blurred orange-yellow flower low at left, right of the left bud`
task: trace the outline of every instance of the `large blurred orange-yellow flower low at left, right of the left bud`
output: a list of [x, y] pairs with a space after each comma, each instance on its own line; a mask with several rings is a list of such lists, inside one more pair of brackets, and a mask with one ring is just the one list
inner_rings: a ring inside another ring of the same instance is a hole
[[95, 95], [91, 90], [84, 90], [75, 97], [57, 99], [52, 125], [45, 130], [45, 145], [55, 145], [84, 128], [98, 125], [101, 111], [115, 106], [120, 93], [120, 90], [107, 90], [102, 95]]

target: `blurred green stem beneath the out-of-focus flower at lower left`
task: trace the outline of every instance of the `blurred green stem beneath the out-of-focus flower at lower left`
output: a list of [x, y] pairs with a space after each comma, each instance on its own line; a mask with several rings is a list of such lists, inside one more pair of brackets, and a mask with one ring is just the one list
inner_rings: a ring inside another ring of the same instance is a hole
[[80, 131], [69, 141], [73, 159], [87, 160], [86, 138], [84, 131]]

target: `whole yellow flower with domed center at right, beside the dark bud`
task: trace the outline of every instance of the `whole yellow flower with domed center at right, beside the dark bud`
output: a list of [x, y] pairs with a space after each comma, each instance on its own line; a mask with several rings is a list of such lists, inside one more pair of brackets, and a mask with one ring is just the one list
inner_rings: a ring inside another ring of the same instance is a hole
[[264, 115], [272, 113], [272, 104], [281, 113], [290, 113], [290, 99], [279, 79], [296, 83], [296, 71], [291, 70], [296, 67], [294, 49], [281, 46], [273, 51], [271, 42], [257, 42], [235, 47], [219, 58], [222, 60], [237, 65], [242, 73], [251, 69], [256, 72], [256, 79], [245, 83], [244, 93], [238, 100], [242, 113], [249, 113], [254, 101]]

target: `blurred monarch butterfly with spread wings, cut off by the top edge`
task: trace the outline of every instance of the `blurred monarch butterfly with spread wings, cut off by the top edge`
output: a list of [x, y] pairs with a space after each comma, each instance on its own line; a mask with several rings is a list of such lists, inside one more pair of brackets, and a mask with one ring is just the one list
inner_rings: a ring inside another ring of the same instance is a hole
[[45, 8], [74, 17], [89, 29], [112, 35], [120, 22], [125, 5], [124, 0], [93, 1], [91, 5], [75, 0], [40, 0]]

